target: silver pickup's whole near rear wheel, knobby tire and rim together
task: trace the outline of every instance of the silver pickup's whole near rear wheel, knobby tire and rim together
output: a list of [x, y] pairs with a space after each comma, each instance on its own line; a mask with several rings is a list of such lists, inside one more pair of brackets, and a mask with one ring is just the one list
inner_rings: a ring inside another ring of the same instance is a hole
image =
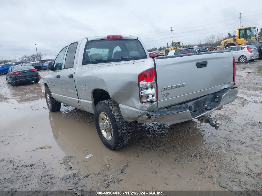
[[95, 106], [95, 126], [103, 144], [110, 150], [125, 146], [131, 139], [131, 125], [125, 121], [119, 105], [112, 99]]

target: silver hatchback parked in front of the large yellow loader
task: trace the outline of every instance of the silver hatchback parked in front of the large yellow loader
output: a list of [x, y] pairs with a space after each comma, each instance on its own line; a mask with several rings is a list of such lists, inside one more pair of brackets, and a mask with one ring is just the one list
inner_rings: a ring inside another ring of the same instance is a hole
[[253, 61], [259, 58], [259, 53], [255, 46], [230, 46], [223, 50], [231, 50], [235, 61], [239, 63], [246, 63], [247, 60]]

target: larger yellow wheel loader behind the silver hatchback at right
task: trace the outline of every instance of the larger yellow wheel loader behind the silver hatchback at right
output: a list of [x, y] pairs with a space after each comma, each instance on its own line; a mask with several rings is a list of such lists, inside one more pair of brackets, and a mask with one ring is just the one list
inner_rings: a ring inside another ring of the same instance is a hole
[[228, 33], [229, 37], [226, 40], [221, 41], [220, 50], [227, 48], [229, 46], [246, 45], [249, 40], [255, 40], [262, 43], [262, 37], [257, 37], [256, 27], [242, 27], [238, 28], [238, 36], [231, 35]]

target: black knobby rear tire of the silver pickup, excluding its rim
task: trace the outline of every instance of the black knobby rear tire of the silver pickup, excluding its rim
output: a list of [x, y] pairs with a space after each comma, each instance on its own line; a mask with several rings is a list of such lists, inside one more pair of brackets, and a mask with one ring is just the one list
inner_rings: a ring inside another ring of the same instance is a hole
[[[99, 115], [101, 112], [106, 113], [112, 124], [113, 135], [110, 140], [103, 136], [99, 126]], [[101, 141], [110, 150], [122, 148], [131, 139], [131, 125], [124, 120], [118, 103], [112, 99], [100, 101], [95, 106], [95, 126]]]

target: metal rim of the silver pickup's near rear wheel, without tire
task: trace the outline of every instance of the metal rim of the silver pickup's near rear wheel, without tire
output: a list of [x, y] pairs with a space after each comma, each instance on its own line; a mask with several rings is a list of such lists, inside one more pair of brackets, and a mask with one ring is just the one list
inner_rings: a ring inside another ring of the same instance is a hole
[[100, 112], [98, 122], [104, 138], [111, 140], [113, 137], [113, 127], [108, 115], [105, 112]]

